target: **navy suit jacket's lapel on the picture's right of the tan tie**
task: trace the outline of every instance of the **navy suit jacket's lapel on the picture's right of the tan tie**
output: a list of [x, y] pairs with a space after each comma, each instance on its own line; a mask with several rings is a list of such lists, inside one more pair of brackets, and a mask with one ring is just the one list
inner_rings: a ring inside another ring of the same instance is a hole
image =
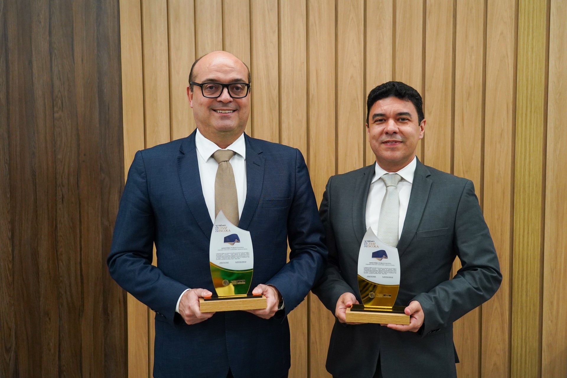
[[265, 158], [261, 155], [262, 149], [254, 139], [244, 134], [246, 140], [246, 202], [240, 215], [238, 227], [247, 230], [252, 216], [256, 212], [264, 184]]

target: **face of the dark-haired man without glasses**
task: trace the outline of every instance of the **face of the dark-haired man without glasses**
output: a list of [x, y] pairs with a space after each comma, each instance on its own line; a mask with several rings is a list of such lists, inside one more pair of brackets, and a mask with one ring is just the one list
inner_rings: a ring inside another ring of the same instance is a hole
[[366, 131], [376, 162], [387, 172], [404, 168], [416, 155], [417, 142], [424, 137], [425, 120], [409, 100], [386, 97], [372, 105]]

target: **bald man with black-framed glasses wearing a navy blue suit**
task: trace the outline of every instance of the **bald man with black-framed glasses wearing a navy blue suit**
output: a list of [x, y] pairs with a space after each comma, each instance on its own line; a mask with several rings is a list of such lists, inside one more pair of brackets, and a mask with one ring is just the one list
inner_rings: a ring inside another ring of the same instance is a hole
[[[323, 273], [327, 258], [307, 167], [296, 148], [244, 134], [250, 76], [238, 58], [207, 54], [193, 63], [189, 82], [197, 130], [136, 153], [108, 268], [121, 287], [156, 312], [156, 378], [287, 377], [286, 315]], [[209, 240], [218, 150], [234, 154], [229, 163], [238, 227], [251, 233], [251, 287], [253, 294], [266, 296], [266, 309], [203, 313], [199, 308], [198, 299], [214, 292]], [[154, 243], [157, 267], [151, 265]]]

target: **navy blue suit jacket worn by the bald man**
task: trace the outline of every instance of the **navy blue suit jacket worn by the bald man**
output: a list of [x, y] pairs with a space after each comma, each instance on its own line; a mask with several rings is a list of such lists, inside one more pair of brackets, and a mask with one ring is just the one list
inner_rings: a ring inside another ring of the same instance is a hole
[[[202, 194], [195, 133], [138, 151], [116, 218], [108, 268], [112, 278], [156, 312], [154, 376], [280, 377], [290, 366], [295, 308], [323, 273], [323, 227], [299, 150], [245, 135], [247, 194], [240, 228], [251, 233], [257, 284], [285, 301], [269, 320], [218, 312], [187, 325], [175, 312], [187, 288], [214, 291], [209, 269], [213, 228]], [[289, 240], [290, 262], [286, 264]], [[158, 266], [151, 265], [155, 243]]]

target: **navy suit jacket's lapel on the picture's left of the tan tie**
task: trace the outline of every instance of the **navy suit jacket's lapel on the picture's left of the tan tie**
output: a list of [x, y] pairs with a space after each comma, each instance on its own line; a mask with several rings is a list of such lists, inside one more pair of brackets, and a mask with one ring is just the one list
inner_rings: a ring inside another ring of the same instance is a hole
[[195, 134], [196, 131], [193, 131], [181, 143], [179, 148], [180, 155], [177, 157], [177, 171], [179, 172], [181, 189], [189, 210], [206, 237], [210, 237], [213, 230], [213, 222], [205, 203], [205, 197], [203, 197], [199, 164], [197, 162], [197, 148], [195, 147]]

